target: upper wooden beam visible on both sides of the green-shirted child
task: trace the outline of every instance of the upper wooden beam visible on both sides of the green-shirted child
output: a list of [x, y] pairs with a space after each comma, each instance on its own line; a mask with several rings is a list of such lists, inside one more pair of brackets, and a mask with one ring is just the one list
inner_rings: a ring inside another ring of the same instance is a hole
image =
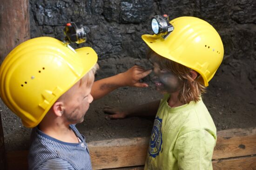
[[[143, 165], [149, 138], [113, 139], [88, 144], [93, 168]], [[256, 155], [256, 127], [217, 132], [213, 159]]]

